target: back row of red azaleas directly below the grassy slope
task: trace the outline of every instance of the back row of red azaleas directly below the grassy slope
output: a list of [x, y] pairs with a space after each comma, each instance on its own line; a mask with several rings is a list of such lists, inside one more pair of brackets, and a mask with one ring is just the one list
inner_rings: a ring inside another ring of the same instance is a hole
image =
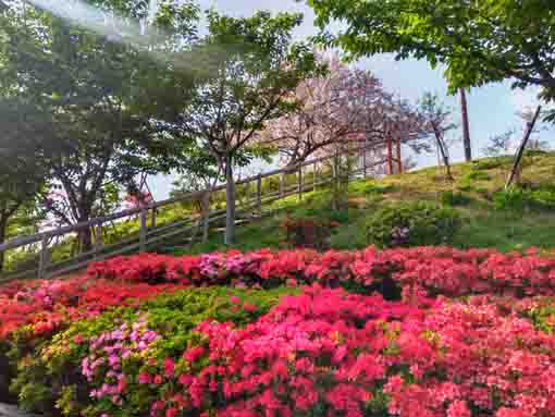
[[95, 262], [92, 278], [123, 278], [149, 283], [274, 287], [318, 282], [325, 286], [380, 291], [387, 298], [402, 290], [429, 295], [510, 294], [518, 297], [555, 294], [555, 258], [501, 254], [491, 249], [448, 247], [397, 248], [379, 252], [258, 250], [201, 256], [140, 255]]

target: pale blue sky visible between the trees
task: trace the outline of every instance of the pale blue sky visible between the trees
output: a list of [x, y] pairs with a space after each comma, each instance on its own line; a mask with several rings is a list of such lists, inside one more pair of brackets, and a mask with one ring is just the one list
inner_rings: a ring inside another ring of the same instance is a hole
[[[312, 10], [305, 3], [295, 0], [272, 0], [271, 2], [268, 0], [200, 0], [200, 7], [202, 9], [214, 8], [232, 16], [251, 15], [259, 9], [272, 12], [300, 12], [305, 15], [305, 20], [295, 32], [296, 40], [301, 40], [317, 33], [317, 28], [312, 23], [314, 17]], [[432, 70], [425, 61], [395, 61], [393, 54], [366, 58], [354, 63], [354, 65], [370, 70], [382, 81], [386, 90], [410, 102], [416, 103], [427, 91], [437, 94], [454, 110], [454, 121], [460, 125], [458, 97], [447, 96], [446, 82], [440, 69]], [[535, 94], [533, 90], [513, 90], [509, 82], [491, 84], [470, 90], [467, 94], [467, 101], [473, 154], [480, 156], [481, 149], [488, 145], [491, 136], [502, 134], [510, 128], [522, 130], [523, 122], [516, 115], [516, 112], [522, 110], [523, 107], [538, 106]], [[515, 137], [516, 140], [520, 140], [520, 135], [521, 132]], [[460, 137], [460, 130], [453, 133], [454, 145], [451, 148], [453, 161], [460, 161], [464, 158]], [[552, 148], [555, 148], [555, 142], [552, 137], [552, 130], [542, 133], [542, 138], [552, 142]], [[418, 158], [421, 167], [433, 164], [435, 161], [435, 155]], [[263, 170], [263, 167], [259, 169]], [[172, 181], [172, 177], [165, 176], [152, 179], [151, 185], [153, 186], [151, 188], [156, 189], [155, 198], [165, 198], [171, 189]]]

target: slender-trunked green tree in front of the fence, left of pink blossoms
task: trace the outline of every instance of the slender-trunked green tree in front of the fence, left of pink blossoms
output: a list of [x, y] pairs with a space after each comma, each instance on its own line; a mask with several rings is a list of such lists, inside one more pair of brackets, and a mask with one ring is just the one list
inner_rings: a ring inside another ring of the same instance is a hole
[[[196, 140], [214, 158], [226, 180], [225, 243], [233, 243], [235, 183], [233, 168], [242, 158], [264, 154], [254, 144], [256, 134], [272, 120], [292, 111], [297, 85], [314, 71], [307, 46], [292, 45], [298, 14], [227, 17], [207, 13], [208, 35], [196, 51], [205, 58], [208, 76], [196, 84], [183, 107], [184, 137]], [[217, 50], [218, 53], [213, 53]]]

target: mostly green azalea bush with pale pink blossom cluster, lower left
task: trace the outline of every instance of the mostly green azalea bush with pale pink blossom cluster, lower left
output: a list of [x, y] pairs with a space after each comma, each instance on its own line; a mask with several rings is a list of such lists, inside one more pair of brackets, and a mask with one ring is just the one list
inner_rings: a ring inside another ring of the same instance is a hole
[[12, 338], [10, 355], [20, 359], [12, 392], [26, 409], [50, 412], [55, 404], [67, 416], [148, 410], [160, 396], [157, 376], [183, 368], [180, 355], [203, 343], [193, 332], [196, 326], [208, 319], [244, 326], [278, 304], [281, 295], [293, 293], [177, 291], [77, 321], [38, 343], [30, 354], [16, 343], [32, 329], [22, 328]]

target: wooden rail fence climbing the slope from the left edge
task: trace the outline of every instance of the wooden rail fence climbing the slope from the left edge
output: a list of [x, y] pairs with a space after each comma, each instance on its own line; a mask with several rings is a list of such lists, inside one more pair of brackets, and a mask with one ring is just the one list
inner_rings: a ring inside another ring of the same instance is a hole
[[[245, 186], [247, 189], [254, 188], [246, 201], [238, 201], [237, 216], [245, 212], [255, 213], [255, 217], [261, 217], [269, 213], [264, 211], [264, 207], [280, 200], [282, 198], [298, 195], [299, 200], [303, 194], [311, 192], [319, 186], [338, 184], [341, 181], [349, 181], [355, 177], [367, 176], [367, 172], [371, 167], [382, 164], [384, 161], [368, 164], [366, 154], [370, 148], [358, 148], [348, 150], [335, 156], [326, 156], [310, 161], [299, 163], [294, 167], [261, 173], [236, 182], [237, 186]], [[357, 157], [357, 165], [347, 172], [340, 172], [342, 157]], [[322, 170], [322, 165], [326, 169]], [[306, 181], [305, 172], [312, 172], [310, 182]], [[284, 175], [295, 175], [295, 182], [286, 184]], [[276, 176], [279, 181], [279, 189], [263, 193], [262, 181]], [[75, 270], [85, 268], [89, 262], [104, 259], [108, 257], [143, 253], [149, 248], [155, 248], [164, 241], [180, 236], [183, 241], [193, 242], [196, 238], [206, 238], [210, 224], [221, 222], [225, 219], [225, 208], [212, 210], [209, 197], [212, 193], [222, 192], [225, 184], [219, 185], [210, 191], [201, 191], [186, 194], [176, 198], [170, 198], [163, 201], [152, 203], [141, 208], [123, 210], [106, 217], [91, 219], [87, 222], [73, 224], [55, 230], [50, 230], [29, 236], [23, 236], [10, 240], [0, 245], [0, 253], [8, 250], [23, 250], [25, 247], [35, 247], [38, 259], [35, 259], [30, 266], [16, 270], [14, 272], [0, 275], [0, 282], [23, 279], [23, 278], [50, 278], [61, 275]], [[168, 224], [157, 224], [157, 213], [161, 208], [176, 204], [197, 201], [202, 208], [199, 213], [192, 213], [185, 219], [170, 222]], [[139, 220], [138, 233], [132, 233], [124, 236], [118, 242], [103, 244], [103, 229], [113, 222], [136, 221]], [[75, 238], [75, 236], [84, 230], [94, 231], [95, 240], [89, 250], [71, 255], [66, 259], [53, 261], [51, 259], [51, 250], [53, 248], [52, 241], [63, 242], [64, 240]], [[199, 234], [199, 230], [201, 233]], [[38, 245], [38, 247], [37, 247]]]

